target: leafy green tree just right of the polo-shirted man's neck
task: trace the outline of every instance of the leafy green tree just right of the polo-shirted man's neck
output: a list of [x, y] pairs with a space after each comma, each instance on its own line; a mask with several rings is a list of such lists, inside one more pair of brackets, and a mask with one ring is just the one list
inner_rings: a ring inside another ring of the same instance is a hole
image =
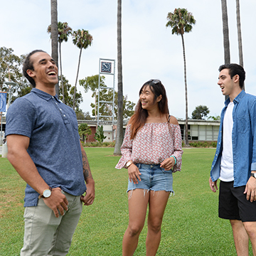
[[[63, 75], [63, 85], [64, 85], [64, 97], [65, 97], [65, 105], [68, 105], [69, 107], [73, 107], [73, 93], [75, 90], [74, 86], [71, 86], [68, 80]], [[62, 87], [60, 87], [60, 100], [63, 100], [63, 90]], [[75, 112], [80, 112], [80, 103], [82, 102], [82, 93], [77, 92], [75, 94]]]

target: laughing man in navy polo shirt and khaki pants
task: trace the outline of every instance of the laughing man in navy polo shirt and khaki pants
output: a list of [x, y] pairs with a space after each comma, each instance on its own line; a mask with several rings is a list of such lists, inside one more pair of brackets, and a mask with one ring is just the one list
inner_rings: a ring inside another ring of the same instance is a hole
[[55, 96], [53, 58], [34, 50], [23, 63], [23, 75], [33, 89], [6, 115], [7, 157], [27, 183], [21, 256], [67, 255], [82, 203], [94, 201], [95, 182], [75, 112]]

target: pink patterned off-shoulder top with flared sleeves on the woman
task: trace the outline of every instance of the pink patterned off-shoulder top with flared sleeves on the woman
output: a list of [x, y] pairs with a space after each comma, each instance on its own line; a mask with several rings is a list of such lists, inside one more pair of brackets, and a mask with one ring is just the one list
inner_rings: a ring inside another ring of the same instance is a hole
[[116, 169], [122, 169], [129, 160], [134, 164], [161, 164], [164, 159], [175, 156], [177, 162], [172, 171], [181, 171], [181, 128], [169, 122], [146, 123], [131, 139], [131, 124], [128, 124], [121, 153]]

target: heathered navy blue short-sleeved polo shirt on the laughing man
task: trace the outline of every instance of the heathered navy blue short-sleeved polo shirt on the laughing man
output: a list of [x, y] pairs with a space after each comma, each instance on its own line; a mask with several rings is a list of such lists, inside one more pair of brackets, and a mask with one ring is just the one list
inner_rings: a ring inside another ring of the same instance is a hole
[[[78, 122], [71, 107], [33, 88], [18, 98], [6, 115], [6, 136], [30, 138], [28, 154], [43, 180], [73, 196], [85, 192]], [[38, 193], [27, 184], [24, 206], [37, 206]]]

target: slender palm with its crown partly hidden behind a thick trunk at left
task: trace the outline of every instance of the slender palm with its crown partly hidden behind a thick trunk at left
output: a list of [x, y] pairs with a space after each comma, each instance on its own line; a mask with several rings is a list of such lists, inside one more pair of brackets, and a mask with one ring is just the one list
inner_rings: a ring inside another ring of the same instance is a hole
[[[51, 26], [49, 25], [47, 28], [47, 32], [51, 33]], [[58, 22], [58, 43], [59, 43], [59, 51], [60, 51], [60, 80], [61, 80], [61, 87], [62, 91], [64, 92], [64, 85], [63, 85], [63, 73], [62, 73], [62, 64], [61, 64], [61, 43], [63, 41], [68, 41], [68, 36], [72, 33], [72, 28], [68, 26], [68, 22]], [[63, 97], [63, 103], [65, 104], [65, 98]]]

